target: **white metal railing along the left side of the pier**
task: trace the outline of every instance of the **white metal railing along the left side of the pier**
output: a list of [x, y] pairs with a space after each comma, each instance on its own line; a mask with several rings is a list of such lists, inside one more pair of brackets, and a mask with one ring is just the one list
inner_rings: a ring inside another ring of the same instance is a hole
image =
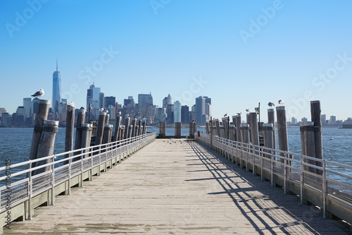
[[[110, 167], [113, 166], [113, 159], [116, 165], [125, 158], [125, 155], [132, 154], [132, 151], [150, 143], [155, 138], [155, 133], [146, 133], [113, 143], [85, 147], [0, 167], [0, 182], [4, 185], [0, 187], [0, 213], [7, 210], [6, 205], [10, 204], [11, 207], [15, 207], [25, 201], [28, 202], [28, 207], [32, 208], [32, 198], [50, 189], [51, 204], [54, 205], [55, 186], [68, 181], [68, 194], [70, 194], [73, 177], [81, 175], [80, 186], [82, 186], [84, 172], [90, 171], [89, 178], [92, 180], [95, 167], [98, 168], [97, 174], [100, 175], [102, 170], [107, 171], [108, 163], [110, 163]], [[50, 163], [33, 167], [34, 163], [48, 161], [48, 159]], [[101, 169], [102, 165], [103, 169]], [[32, 172], [45, 167], [49, 167], [50, 170], [32, 175]], [[8, 181], [10, 183], [7, 183]], [[28, 210], [28, 213], [28, 218], [31, 219], [31, 210]]]

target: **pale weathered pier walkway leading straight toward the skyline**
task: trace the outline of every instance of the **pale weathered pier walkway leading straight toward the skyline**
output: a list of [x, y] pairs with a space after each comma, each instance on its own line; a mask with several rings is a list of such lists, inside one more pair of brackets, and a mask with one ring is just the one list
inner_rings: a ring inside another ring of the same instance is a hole
[[196, 142], [156, 140], [4, 234], [345, 234]]

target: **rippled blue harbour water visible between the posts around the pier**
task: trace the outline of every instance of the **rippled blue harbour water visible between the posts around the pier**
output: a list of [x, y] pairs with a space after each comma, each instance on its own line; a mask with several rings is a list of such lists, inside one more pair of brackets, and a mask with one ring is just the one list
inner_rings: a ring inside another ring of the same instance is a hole
[[[158, 128], [147, 128], [155, 131]], [[205, 131], [199, 128], [198, 131]], [[289, 151], [301, 153], [301, 135], [299, 128], [288, 128]], [[11, 159], [11, 164], [23, 162], [28, 159], [32, 140], [33, 128], [0, 128], [0, 165], [5, 165], [5, 159]], [[166, 135], [174, 135], [174, 128], [167, 128]], [[189, 134], [189, 128], [182, 128], [182, 135]], [[334, 140], [329, 140], [330, 137]], [[63, 152], [65, 148], [65, 128], [59, 128], [56, 133], [55, 153]], [[324, 159], [352, 166], [352, 129], [323, 128], [322, 145]], [[278, 146], [278, 144], [277, 144]], [[339, 167], [334, 167], [339, 169]], [[352, 174], [352, 171], [344, 171]], [[351, 184], [351, 181], [344, 181]]]

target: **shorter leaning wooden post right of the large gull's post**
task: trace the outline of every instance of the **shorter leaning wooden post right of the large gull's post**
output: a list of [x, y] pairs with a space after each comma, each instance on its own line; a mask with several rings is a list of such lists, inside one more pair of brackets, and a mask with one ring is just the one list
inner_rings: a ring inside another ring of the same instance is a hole
[[[40, 138], [39, 141], [37, 159], [54, 154], [56, 132], [58, 132], [58, 121], [45, 120], [42, 131], [42, 138]], [[48, 163], [51, 163], [51, 159], [45, 159], [36, 162], [35, 167], [39, 167]], [[51, 166], [46, 166], [40, 169], [36, 169], [33, 174], [40, 174], [49, 170], [51, 170]]]

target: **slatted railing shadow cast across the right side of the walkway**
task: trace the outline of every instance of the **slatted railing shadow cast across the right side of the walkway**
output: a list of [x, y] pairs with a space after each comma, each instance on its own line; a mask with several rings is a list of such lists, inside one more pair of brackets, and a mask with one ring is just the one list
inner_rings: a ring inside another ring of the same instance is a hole
[[[326, 227], [322, 228], [321, 223], [315, 222], [322, 219], [319, 212], [314, 212], [308, 205], [299, 205], [296, 196], [284, 194], [281, 189], [271, 187], [270, 183], [260, 181], [208, 147], [195, 142], [189, 142], [189, 145], [223, 189], [210, 194], [227, 194], [259, 234], [276, 234], [277, 229], [285, 234], [303, 233], [303, 230], [313, 234], [327, 232]], [[189, 181], [200, 180], [209, 179]]]

